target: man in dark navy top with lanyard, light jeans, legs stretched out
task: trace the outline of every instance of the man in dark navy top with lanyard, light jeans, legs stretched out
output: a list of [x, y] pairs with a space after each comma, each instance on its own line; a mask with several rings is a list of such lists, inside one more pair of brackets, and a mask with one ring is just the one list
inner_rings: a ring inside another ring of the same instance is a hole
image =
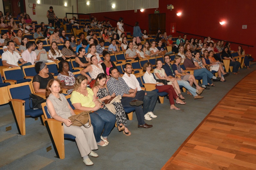
[[183, 87], [188, 89], [188, 91], [194, 96], [194, 99], [203, 99], [204, 98], [203, 96], [199, 96], [199, 94], [201, 94], [203, 92], [203, 88], [195, 89], [190, 86], [188, 81], [181, 80], [180, 78], [175, 76], [174, 69], [172, 68], [172, 65], [170, 63], [170, 55], [164, 55], [164, 62], [165, 62], [165, 64], [163, 65], [162, 68], [164, 69], [164, 71], [168, 77], [174, 77], [177, 80], [179, 85], [182, 85]]

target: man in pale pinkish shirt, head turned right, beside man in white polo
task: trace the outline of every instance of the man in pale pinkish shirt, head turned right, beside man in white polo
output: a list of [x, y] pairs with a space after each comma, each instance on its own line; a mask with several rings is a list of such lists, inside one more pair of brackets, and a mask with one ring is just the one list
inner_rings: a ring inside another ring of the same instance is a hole
[[37, 61], [35, 45], [35, 41], [28, 41], [26, 44], [27, 49], [21, 53], [22, 59], [27, 63], [31, 63], [32, 65], [35, 64], [35, 61]]

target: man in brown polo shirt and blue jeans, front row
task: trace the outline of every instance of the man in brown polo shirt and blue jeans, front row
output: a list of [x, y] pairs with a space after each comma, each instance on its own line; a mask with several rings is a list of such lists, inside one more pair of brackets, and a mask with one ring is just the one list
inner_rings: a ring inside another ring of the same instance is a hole
[[213, 76], [213, 74], [210, 71], [208, 71], [207, 69], [195, 66], [195, 64], [192, 60], [192, 54], [190, 51], [187, 51], [185, 56], [186, 56], [186, 59], [184, 60], [183, 64], [184, 64], [186, 70], [194, 70], [195, 77], [200, 76], [203, 78], [202, 87], [204, 87], [205, 89], [209, 89], [209, 88], [206, 88], [206, 86], [205, 86], [205, 85], [208, 85], [207, 77], [212, 78], [212, 79], [217, 79], [218, 81], [220, 81], [220, 79], [221, 79], [220, 77]]

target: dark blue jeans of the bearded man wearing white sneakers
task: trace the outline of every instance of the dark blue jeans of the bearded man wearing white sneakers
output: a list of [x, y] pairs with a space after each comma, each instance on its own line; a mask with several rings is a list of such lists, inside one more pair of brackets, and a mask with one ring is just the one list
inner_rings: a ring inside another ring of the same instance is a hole
[[148, 112], [153, 112], [156, 106], [156, 100], [158, 97], [157, 92], [154, 91], [145, 91], [147, 95], [143, 99], [143, 113], [146, 115]]

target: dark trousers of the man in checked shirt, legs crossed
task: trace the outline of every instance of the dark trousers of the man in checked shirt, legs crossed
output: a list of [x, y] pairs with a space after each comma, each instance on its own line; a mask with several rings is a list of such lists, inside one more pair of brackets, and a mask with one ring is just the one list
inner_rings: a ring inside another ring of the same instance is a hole
[[136, 96], [134, 98], [132, 98], [132, 97], [122, 97], [122, 100], [121, 100], [121, 103], [122, 103], [123, 107], [135, 107], [135, 112], [136, 112], [136, 116], [137, 116], [137, 120], [138, 120], [138, 125], [145, 124], [142, 105], [140, 105], [140, 106], [131, 106], [130, 101], [132, 101], [132, 100], [141, 100], [141, 101], [143, 101], [144, 96], [145, 96], [145, 91], [141, 90], [141, 91], [138, 91], [136, 93]]

